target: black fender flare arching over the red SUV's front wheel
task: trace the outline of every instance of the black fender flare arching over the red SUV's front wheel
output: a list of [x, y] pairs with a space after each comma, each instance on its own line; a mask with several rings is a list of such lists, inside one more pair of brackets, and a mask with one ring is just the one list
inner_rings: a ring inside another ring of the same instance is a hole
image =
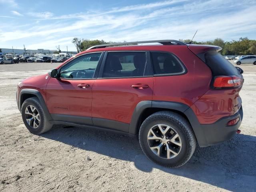
[[46, 103], [44, 101], [44, 98], [42, 96], [42, 94], [38, 91], [38, 90], [35, 90], [35, 89], [22, 89], [20, 91], [20, 96], [19, 96], [19, 100], [18, 100], [18, 108], [19, 110], [21, 111], [21, 100], [22, 100], [22, 97], [24, 96], [24, 94], [32, 94], [34, 96], [36, 96], [44, 110], [44, 113], [46, 115], [46, 118], [48, 120], [52, 120], [52, 116], [50, 115], [49, 111], [48, 111], [48, 108], [46, 106]]

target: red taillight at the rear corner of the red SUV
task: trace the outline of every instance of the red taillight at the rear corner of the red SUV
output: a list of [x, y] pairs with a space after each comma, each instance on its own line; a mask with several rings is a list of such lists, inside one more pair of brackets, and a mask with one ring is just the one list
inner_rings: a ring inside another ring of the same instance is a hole
[[239, 87], [241, 85], [240, 77], [221, 76], [214, 79], [213, 86], [216, 88]]

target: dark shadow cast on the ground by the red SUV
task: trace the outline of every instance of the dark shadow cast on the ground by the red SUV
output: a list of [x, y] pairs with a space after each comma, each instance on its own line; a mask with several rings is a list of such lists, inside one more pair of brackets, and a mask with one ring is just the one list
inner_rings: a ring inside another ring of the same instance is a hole
[[[190, 161], [176, 169], [151, 162], [138, 141], [91, 128], [54, 128], [40, 136], [63, 142], [86, 151], [126, 160], [143, 172], [153, 169], [183, 176], [230, 191], [256, 191], [256, 137], [236, 134], [230, 141], [197, 148]], [[86, 142], [84, 145], [83, 142]]]

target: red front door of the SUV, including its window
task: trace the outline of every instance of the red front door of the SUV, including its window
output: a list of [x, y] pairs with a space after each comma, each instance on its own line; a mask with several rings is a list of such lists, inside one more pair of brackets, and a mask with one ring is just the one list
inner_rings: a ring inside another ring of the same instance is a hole
[[101, 55], [78, 56], [58, 70], [60, 78], [50, 78], [46, 100], [54, 120], [92, 124], [92, 86]]

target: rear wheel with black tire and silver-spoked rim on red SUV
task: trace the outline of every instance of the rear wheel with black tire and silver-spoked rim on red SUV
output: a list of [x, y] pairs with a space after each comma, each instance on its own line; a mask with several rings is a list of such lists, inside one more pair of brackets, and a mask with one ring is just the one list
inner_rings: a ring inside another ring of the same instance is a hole
[[[164, 130], [164, 126], [167, 126], [165, 130], [167, 128], [168, 130], [164, 134], [166, 138], [160, 136], [163, 134], [159, 131], [159, 126], [163, 128], [162, 130]], [[162, 140], [152, 139], [152, 136], [162, 138]], [[148, 140], [148, 138], [151, 139]], [[190, 123], [181, 115], [170, 111], [160, 111], [148, 116], [140, 127], [139, 142], [142, 151], [150, 160], [172, 168], [180, 167], [188, 162], [196, 148], [196, 136]], [[161, 146], [162, 153], [159, 152], [160, 148], [159, 150], [152, 149], [156, 146]], [[172, 150], [172, 152], [169, 151], [169, 156], [166, 150], [167, 146]]]

